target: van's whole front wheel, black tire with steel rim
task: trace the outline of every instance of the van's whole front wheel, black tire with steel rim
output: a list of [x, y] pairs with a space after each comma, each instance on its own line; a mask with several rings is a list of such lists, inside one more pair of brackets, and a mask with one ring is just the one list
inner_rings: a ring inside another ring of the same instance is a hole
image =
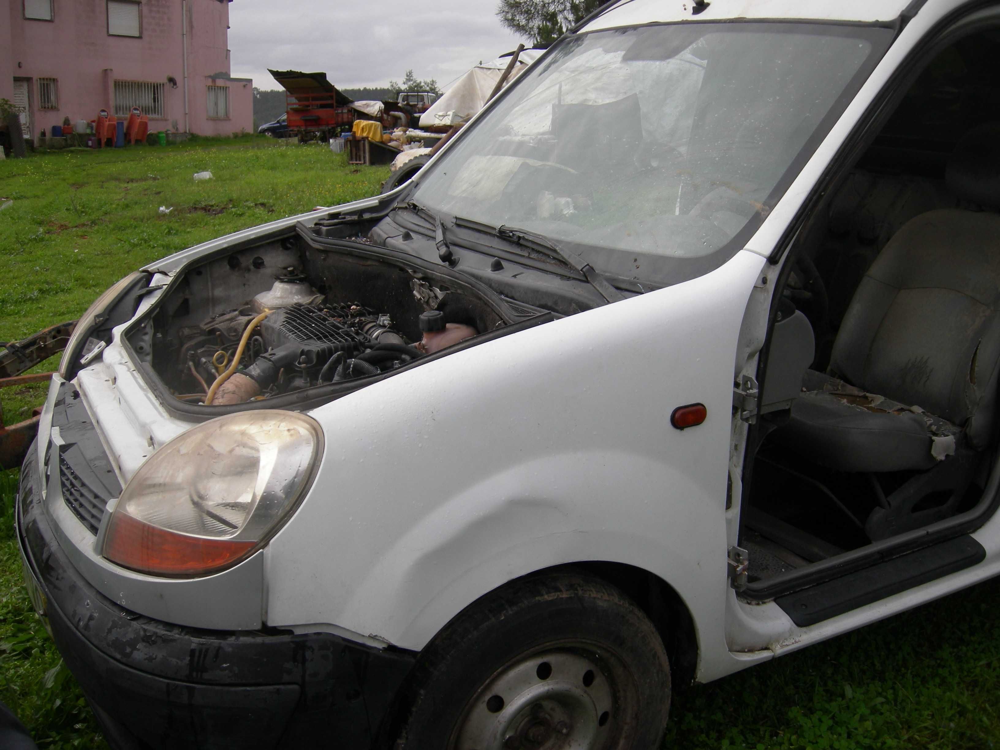
[[557, 573], [467, 607], [421, 652], [401, 699], [395, 750], [650, 750], [669, 713], [670, 667], [624, 593]]

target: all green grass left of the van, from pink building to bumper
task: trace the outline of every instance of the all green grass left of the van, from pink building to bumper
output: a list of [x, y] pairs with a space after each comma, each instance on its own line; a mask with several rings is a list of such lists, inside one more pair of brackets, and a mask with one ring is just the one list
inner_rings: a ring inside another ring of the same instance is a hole
[[[195, 182], [195, 172], [213, 179]], [[386, 167], [248, 136], [179, 146], [68, 150], [0, 161], [0, 341], [79, 317], [150, 261], [268, 221], [373, 195]], [[160, 206], [173, 210], [159, 213]], [[58, 357], [32, 371], [53, 370]], [[47, 384], [0, 389], [4, 424]], [[24, 592], [13, 538], [17, 472], [0, 472], [0, 701], [41, 748], [106, 747], [83, 693]]]

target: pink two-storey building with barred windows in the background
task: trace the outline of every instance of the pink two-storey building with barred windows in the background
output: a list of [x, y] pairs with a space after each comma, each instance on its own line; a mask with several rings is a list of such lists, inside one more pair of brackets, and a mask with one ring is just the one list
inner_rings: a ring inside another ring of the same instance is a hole
[[63, 118], [119, 119], [149, 130], [253, 130], [253, 83], [229, 75], [232, 0], [0, 0], [0, 98], [37, 142]]

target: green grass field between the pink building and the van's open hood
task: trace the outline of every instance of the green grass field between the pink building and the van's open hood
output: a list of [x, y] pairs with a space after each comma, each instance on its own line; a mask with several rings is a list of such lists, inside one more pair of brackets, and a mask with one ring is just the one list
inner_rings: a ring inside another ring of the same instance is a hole
[[[195, 172], [213, 179], [195, 182]], [[378, 193], [386, 167], [263, 136], [0, 162], [0, 341], [79, 317], [130, 271], [206, 240]], [[160, 214], [160, 206], [172, 208]], [[34, 371], [52, 370], [54, 359]], [[4, 424], [46, 386], [0, 391]]]

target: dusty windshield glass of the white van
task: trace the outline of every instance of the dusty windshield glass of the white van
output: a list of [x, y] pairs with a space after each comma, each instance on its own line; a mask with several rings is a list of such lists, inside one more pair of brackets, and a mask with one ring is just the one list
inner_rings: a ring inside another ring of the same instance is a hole
[[759, 225], [889, 39], [786, 23], [570, 37], [411, 197], [569, 243], [622, 277], [690, 278]]

